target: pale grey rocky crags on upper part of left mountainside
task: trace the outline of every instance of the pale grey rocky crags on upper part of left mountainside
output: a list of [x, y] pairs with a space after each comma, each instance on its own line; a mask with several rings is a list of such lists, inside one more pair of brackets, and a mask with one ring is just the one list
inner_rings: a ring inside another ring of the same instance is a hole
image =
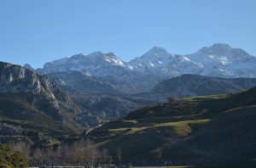
[[[89, 115], [85, 109], [74, 104], [73, 100], [48, 76], [40, 76], [32, 70], [15, 64], [0, 62], [0, 95], [8, 98], [20, 97], [33, 109], [61, 122], [66, 122], [67, 119], [76, 120], [76, 116], [80, 113]], [[90, 125], [86, 120], [79, 124]]]

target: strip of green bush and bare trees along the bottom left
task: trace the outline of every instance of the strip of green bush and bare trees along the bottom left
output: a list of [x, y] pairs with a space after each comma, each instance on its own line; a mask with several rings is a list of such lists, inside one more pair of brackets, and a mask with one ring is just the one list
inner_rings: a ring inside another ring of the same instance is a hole
[[[1, 144], [1, 143], [0, 143]], [[0, 145], [1, 166], [26, 167], [30, 165], [95, 165], [112, 161], [106, 149], [98, 149], [90, 141], [70, 144], [53, 143], [48, 148], [34, 148], [27, 143]]]

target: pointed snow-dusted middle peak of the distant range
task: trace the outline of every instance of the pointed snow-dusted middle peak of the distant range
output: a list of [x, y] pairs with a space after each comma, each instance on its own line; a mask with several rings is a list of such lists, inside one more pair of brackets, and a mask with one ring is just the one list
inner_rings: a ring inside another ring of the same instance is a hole
[[201, 68], [201, 64], [191, 61], [186, 56], [168, 53], [164, 48], [154, 47], [143, 56], [131, 59], [128, 68], [165, 78], [190, 73], [191, 70], [196, 72]]

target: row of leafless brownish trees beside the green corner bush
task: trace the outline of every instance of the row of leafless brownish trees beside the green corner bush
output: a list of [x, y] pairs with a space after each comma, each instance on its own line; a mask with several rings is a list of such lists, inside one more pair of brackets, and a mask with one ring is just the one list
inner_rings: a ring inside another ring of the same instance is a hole
[[77, 141], [72, 144], [61, 144], [57, 148], [35, 148], [27, 143], [10, 143], [16, 151], [20, 151], [29, 157], [33, 164], [44, 165], [80, 165], [96, 163], [110, 163], [111, 157], [106, 149], [99, 149], [96, 144], [90, 141]]

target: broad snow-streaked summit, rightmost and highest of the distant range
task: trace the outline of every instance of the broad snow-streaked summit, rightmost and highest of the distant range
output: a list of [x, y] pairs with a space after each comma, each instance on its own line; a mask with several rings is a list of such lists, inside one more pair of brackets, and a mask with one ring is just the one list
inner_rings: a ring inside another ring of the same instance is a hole
[[255, 77], [256, 58], [240, 48], [227, 44], [213, 44], [188, 55], [202, 65], [200, 75], [218, 77]]

